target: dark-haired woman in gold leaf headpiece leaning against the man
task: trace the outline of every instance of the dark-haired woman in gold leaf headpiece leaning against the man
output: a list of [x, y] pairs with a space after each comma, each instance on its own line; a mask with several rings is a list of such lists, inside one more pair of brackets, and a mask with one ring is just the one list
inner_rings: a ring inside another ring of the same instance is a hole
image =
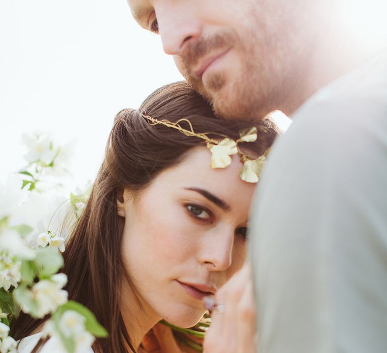
[[[242, 267], [255, 184], [239, 174], [277, 136], [270, 120], [259, 124], [255, 142], [239, 141], [238, 131], [251, 124], [214, 116], [184, 82], [116, 115], [63, 253], [69, 299], [88, 307], [109, 333], [85, 352], [146, 351], [143, 337], [161, 319], [195, 325], [206, 311], [203, 298]], [[225, 137], [237, 141], [231, 157], [218, 145]], [[42, 352], [57, 351], [52, 339], [40, 339], [43, 323], [21, 313], [12, 324], [20, 352], [36, 343]]]

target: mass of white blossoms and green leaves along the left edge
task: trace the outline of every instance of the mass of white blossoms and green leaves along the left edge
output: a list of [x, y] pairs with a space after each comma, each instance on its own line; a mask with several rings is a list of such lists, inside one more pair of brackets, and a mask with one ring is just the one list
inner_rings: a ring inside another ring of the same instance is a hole
[[[24, 141], [29, 164], [6, 186], [0, 183], [0, 353], [17, 352], [8, 325], [20, 310], [33, 318], [50, 315], [43, 336], [57, 340], [54, 346], [64, 353], [77, 353], [90, 347], [94, 336], [107, 336], [87, 308], [68, 301], [67, 276], [57, 273], [67, 236], [62, 222], [71, 210], [74, 220], [81, 216], [90, 188], [69, 198], [63, 180], [58, 182], [61, 172], [69, 174], [63, 164], [68, 147], [55, 146], [42, 134]], [[59, 230], [64, 237], [57, 236]]]

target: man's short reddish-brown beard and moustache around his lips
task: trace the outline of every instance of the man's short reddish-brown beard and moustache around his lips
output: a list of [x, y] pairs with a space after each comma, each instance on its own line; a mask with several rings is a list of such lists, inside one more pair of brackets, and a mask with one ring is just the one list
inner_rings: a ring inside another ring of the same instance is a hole
[[[239, 54], [236, 63], [240, 65], [239, 71], [234, 72], [233, 76], [226, 71], [214, 72], [204, 85], [201, 79], [193, 75], [192, 69], [202, 57], [227, 48]], [[273, 110], [268, 106], [267, 87], [260, 85], [262, 74], [265, 73], [260, 68], [259, 54], [253, 39], [244, 42], [235, 32], [199, 38], [187, 45], [179, 60], [188, 84], [204, 96], [212, 104], [215, 113], [224, 119], [256, 120]]]

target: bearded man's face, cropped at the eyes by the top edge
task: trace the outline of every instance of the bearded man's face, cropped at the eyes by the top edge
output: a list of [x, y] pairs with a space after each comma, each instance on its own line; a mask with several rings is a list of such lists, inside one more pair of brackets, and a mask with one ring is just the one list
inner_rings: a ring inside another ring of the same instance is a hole
[[288, 79], [297, 71], [292, 65], [298, 61], [292, 38], [299, 34], [294, 16], [302, 2], [128, 3], [136, 21], [161, 36], [164, 51], [174, 56], [181, 74], [226, 119], [258, 119], [281, 109], [294, 90]]

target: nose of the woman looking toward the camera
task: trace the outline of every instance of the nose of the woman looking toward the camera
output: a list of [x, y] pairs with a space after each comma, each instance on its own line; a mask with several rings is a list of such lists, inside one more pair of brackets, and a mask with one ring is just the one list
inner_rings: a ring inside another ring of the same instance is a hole
[[231, 266], [234, 236], [234, 229], [222, 227], [205, 237], [200, 261], [209, 271], [224, 271]]

